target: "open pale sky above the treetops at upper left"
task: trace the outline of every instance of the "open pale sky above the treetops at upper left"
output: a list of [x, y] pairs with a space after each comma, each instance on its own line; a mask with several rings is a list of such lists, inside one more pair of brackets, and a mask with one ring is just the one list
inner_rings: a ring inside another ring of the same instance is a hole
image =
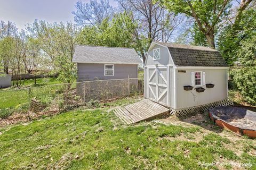
[[[14, 22], [19, 29], [35, 19], [47, 22], [74, 22], [75, 4], [79, 0], [0, 0], [0, 20]], [[89, 2], [83, 0], [82, 2]], [[114, 0], [110, 1], [114, 5]]]

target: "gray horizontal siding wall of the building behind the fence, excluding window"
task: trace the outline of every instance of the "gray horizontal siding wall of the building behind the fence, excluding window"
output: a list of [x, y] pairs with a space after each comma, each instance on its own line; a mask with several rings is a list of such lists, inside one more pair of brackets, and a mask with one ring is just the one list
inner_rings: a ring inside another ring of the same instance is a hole
[[[107, 63], [106, 63], [107, 64]], [[104, 75], [104, 64], [77, 63], [78, 81], [138, 78], [137, 64], [114, 64], [114, 76]]]

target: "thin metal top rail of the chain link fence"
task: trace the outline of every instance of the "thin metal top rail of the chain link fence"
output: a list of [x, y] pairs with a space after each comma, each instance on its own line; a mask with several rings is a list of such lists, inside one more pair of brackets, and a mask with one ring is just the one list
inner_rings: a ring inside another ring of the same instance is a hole
[[[130, 78], [130, 80], [139, 80], [138, 78]], [[109, 80], [91, 80], [91, 81], [81, 81], [81, 82], [73, 82], [73, 83], [61, 83], [61, 84], [50, 84], [46, 86], [40, 86], [40, 87], [27, 87], [23, 89], [13, 89], [13, 90], [1, 90], [1, 92], [10, 92], [10, 91], [18, 91], [18, 90], [28, 90], [28, 89], [39, 89], [39, 88], [47, 88], [47, 87], [54, 87], [54, 86], [65, 86], [65, 85], [70, 85], [70, 84], [79, 84], [79, 83], [89, 83], [89, 82], [102, 82], [102, 81], [117, 81], [117, 80], [128, 80], [128, 79], [109, 79]]]

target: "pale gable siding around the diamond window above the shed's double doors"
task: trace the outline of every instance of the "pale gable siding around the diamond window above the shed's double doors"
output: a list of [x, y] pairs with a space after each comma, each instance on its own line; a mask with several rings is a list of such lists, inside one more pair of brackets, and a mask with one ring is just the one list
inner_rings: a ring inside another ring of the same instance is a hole
[[[153, 49], [160, 48], [160, 60], [153, 60]], [[169, 56], [169, 50], [166, 47], [155, 45], [149, 52], [147, 56], [147, 61], [145, 63], [146, 66], [148, 65], [167, 65], [173, 64], [171, 57]]]

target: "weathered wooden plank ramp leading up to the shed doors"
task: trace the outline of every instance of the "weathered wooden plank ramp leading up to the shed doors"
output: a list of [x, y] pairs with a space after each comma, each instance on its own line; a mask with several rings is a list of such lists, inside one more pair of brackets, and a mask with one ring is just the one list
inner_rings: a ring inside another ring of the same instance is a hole
[[115, 109], [114, 113], [126, 124], [150, 120], [152, 118], [169, 114], [170, 109], [149, 99]]

